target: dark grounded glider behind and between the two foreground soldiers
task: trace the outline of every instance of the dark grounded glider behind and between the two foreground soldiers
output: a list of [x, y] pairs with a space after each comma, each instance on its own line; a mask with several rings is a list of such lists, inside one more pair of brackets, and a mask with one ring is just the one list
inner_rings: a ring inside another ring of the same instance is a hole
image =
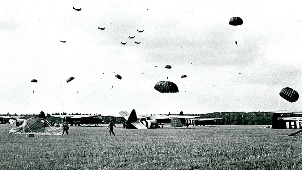
[[95, 115], [51, 115], [51, 117], [62, 118], [63, 122], [67, 122], [71, 126], [80, 126], [81, 124], [98, 126], [99, 123], [104, 122], [102, 116]]

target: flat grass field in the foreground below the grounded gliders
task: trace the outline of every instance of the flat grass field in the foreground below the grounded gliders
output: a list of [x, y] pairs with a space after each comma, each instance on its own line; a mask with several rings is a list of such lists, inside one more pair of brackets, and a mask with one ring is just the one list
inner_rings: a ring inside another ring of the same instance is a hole
[[300, 169], [302, 136], [265, 126], [123, 129], [71, 127], [26, 137], [0, 125], [0, 169]]

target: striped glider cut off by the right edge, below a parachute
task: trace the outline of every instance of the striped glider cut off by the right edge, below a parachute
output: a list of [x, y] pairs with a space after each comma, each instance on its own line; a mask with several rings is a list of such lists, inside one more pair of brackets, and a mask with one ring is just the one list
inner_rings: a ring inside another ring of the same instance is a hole
[[283, 114], [302, 115], [302, 111], [265, 111], [265, 113], [273, 113], [272, 129], [300, 129], [288, 136], [294, 136], [302, 132], [302, 117], [282, 117]]

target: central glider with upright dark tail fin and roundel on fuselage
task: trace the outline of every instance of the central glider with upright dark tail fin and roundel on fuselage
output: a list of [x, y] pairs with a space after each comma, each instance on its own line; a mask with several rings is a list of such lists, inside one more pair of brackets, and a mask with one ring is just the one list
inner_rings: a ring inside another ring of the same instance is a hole
[[[182, 113], [182, 112], [181, 112]], [[181, 115], [136, 115], [135, 110], [129, 114], [127, 111], [119, 112], [119, 115], [103, 115], [111, 117], [123, 117], [127, 120], [127, 129], [155, 129], [158, 124], [170, 124], [171, 122], [185, 120], [188, 118], [196, 118], [199, 116], [183, 116]], [[178, 127], [182, 127], [179, 123]]]

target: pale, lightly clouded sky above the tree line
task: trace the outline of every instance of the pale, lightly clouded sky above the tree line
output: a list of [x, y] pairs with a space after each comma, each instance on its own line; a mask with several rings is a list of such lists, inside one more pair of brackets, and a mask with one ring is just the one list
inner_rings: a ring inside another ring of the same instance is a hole
[[[284, 87], [302, 93], [299, 1], [1, 6], [0, 114], [302, 110], [301, 99], [291, 105], [279, 96]], [[242, 25], [229, 25], [235, 16]], [[174, 82], [179, 93], [158, 92], [158, 81]]]

